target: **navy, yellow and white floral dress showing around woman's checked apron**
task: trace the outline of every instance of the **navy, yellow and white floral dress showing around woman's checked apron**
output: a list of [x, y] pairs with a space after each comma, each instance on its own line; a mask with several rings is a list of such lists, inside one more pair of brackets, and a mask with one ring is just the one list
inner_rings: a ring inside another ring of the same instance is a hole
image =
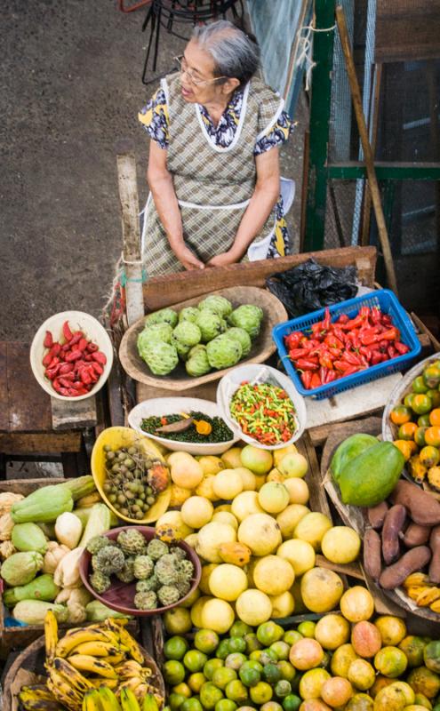
[[[204, 106], [199, 105], [200, 113], [204, 121], [204, 125], [212, 142], [220, 148], [228, 148], [236, 135], [236, 128], [240, 120], [240, 114], [243, 107], [243, 90], [234, 92], [232, 99], [228, 103], [228, 107], [220, 117], [220, 121], [215, 126], [212, 123], [212, 118]], [[141, 109], [139, 114], [140, 123], [148, 132], [149, 137], [155, 140], [160, 148], [168, 148], [169, 143], [169, 114], [166, 97], [163, 89], [157, 89], [156, 93], [148, 101], [147, 105]], [[282, 111], [268, 132], [256, 141], [253, 155], [260, 156], [270, 150], [281, 146], [288, 140], [292, 132], [292, 119], [285, 111]], [[284, 218], [284, 205], [282, 196], [279, 197], [276, 203], [276, 225], [274, 236], [272, 237], [269, 249], [268, 259], [274, 257], [284, 257], [291, 254], [290, 236], [287, 229], [287, 224]]]

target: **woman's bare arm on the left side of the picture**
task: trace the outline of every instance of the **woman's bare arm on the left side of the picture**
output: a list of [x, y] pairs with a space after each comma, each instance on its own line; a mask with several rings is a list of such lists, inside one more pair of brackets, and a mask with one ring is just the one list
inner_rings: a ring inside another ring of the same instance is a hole
[[204, 263], [197, 259], [183, 240], [183, 228], [180, 207], [172, 183], [172, 174], [166, 165], [167, 151], [151, 140], [149, 147], [147, 180], [153, 195], [156, 211], [164, 226], [172, 252], [183, 266], [190, 269], [203, 269]]

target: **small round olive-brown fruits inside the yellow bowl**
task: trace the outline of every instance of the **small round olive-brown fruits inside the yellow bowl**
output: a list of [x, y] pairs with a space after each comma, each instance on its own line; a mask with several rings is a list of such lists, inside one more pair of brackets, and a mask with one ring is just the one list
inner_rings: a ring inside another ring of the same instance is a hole
[[108, 501], [126, 518], [141, 521], [170, 483], [167, 467], [136, 443], [116, 449], [104, 444], [103, 450], [106, 478], [102, 489]]

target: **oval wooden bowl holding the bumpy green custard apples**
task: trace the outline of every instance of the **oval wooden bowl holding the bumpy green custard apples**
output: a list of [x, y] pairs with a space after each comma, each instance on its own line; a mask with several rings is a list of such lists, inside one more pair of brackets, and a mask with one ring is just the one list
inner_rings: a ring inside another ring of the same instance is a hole
[[[287, 320], [287, 312], [281, 301], [276, 299], [276, 296], [256, 286], [236, 286], [228, 289], [220, 289], [220, 291], [211, 293], [224, 296], [225, 299], [228, 299], [232, 303], [234, 308], [242, 304], [255, 304], [256, 306], [260, 306], [264, 311], [260, 334], [252, 341], [252, 350], [243, 361], [240, 361], [240, 365], [244, 363], [263, 363], [269, 356], [275, 353], [276, 345], [272, 340], [272, 329], [276, 324]], [[205, 296], [207, 295], [208, 294]], [[198, 296], [196, 299], [188, 299], [187, 301], [182, 301], [180, 304], [174, 304], [171, 308], [180, 311], [180, 309], [188, 306], [196, 306], [203, 299], [204, 296]], [[224, 368], [221, 371], [208, 372], [200, 378], [191, 378], [185, 370], [184, 364], [179, 363], [169, 375], [154, 375], [149, 370], [147, 363], [139, 356], [136, 346], [138, 335], [143, 331], [144, 323], [145, 319], [140, 318], [139, 321], [133, 324], [128, 331], [124, 333], [119, 348], [119, 360], [121, 361], [124, 371], [127, 372], [132, 379], [140, 383], [145, 383], [145, 385], [164, 387], [168, 390], [188, 390], [190, 387], [196, 387], [203, 383], [217, 380], [232, 370], [231, 368]]]

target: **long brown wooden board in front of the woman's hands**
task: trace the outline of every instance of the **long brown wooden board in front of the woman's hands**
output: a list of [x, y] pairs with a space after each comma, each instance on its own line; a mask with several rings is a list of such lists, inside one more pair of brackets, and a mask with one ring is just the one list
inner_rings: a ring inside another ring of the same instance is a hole
[[172, 276], [155, 276], [144, 284], [144, 301], [147, 312], [172, 306], [180, 301], [202, 296], [227, 286], [264, 287], [268, 276], [282, 272], [313, 257], [320, 264], [347, 267], [356, 264], [359, 280], [365, 286], [374, 283], [376, 249], [374, 247], [344, 247], [324, 252], [304, 252], [274, 260], [259, 260], [233, 264], [230, 267], [178, 272]]

